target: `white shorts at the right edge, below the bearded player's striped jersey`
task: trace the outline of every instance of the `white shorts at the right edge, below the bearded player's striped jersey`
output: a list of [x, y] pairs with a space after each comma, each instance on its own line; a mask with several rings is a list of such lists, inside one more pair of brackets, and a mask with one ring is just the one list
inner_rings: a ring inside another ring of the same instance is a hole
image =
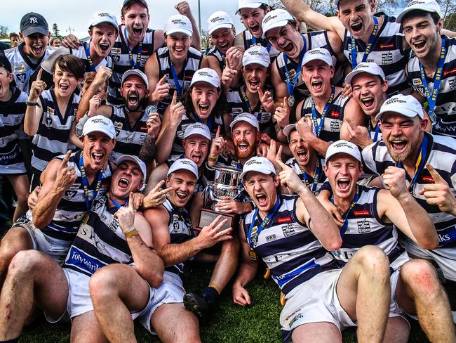
[[436, 261], [443, 272], [443, 276], [456, 282], [456, 247], [438, 247], [435, 250], [424, 250], [409, 238], [403, 240], [402, 245], [414, 257]]

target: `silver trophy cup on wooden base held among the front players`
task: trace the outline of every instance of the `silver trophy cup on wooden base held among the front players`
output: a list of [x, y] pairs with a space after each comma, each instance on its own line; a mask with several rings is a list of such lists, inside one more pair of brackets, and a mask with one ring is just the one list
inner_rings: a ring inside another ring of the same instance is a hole
[[241, 193], [242, 188], [239, 186], [239, 176], [241, 176], [242, 170], [228, 166], [215, 166], [213, 168], [215, 169], [215, 179], [208, 182], [208, 186], [204, 191], [212, 205], [210, 205], [210, 208], [201, 209], [199, 227], [208, 226], [217, 216], [221, 215], [222, 220], [228, 219], [227, 223], [220, 229], [224, 230], [233, 227], [236, 214], [224, 213], [217, 208], [217, 203], [227, 197], [234, 199]]

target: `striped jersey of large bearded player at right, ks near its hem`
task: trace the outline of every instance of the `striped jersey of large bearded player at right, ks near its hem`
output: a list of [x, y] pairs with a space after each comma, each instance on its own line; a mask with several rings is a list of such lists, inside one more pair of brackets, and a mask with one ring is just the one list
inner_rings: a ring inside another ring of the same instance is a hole
[[[429, 138], [427, 156], [424, 157], [427, 163], [448, 182], [452, 193], [456, 195], [456, 140], [455, 138], [438, 136], [424, 133]], [[389, 166], [395, 162], [389, 155], [388, 149], [383, 141], [368, 145], [363, 149], [363, 161], [366, 167], [375, 174], [381, 175]], [[410, 176], [405, 174], [407, 186], [410, 184]], [[441, 212], [438, 206], [429, 205], [420, 191], [425, 185], [434, 183], [431, 174], [427, 169], [422, 169], [417, 176], [417, 181], [410, 188], [410, 192], [417, 202], [426, 210], [434, 222], [438, 233], [439, 247], [456, 247], [456, 217], [452, 214]]]

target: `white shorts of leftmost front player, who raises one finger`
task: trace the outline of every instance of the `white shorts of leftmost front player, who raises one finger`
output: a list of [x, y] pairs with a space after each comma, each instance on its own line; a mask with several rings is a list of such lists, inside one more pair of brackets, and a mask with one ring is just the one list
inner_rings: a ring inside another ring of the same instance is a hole
[[[27, 212], [29, 214], [29, 212]], [[56, 261], [60, 266], [65, 262], [67, 257], [69, 247], [71, 247], [72, 242], [67, 242], [66, 240], [58, 240], [48, 235], [45, 235], [41, 230], [35, 228], [33, 221], [28, 219], [26, 216], [21, 216], [15, 223], [13, 227], [24, 228], [29, 233], [30, 238], [32, 238], [33, 249], [43, 252], [44, 254], [51, 257]]]

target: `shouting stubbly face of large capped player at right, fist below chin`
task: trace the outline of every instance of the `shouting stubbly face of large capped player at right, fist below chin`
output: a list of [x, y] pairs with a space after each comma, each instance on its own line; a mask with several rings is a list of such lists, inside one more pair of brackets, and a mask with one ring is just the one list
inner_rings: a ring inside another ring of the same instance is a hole
[[389, 155], [396, 162], [415, 157], [423, 138], [428, 119], [405, 117], [396, 112], [385, 112], [380, 119], [383, 141]]

